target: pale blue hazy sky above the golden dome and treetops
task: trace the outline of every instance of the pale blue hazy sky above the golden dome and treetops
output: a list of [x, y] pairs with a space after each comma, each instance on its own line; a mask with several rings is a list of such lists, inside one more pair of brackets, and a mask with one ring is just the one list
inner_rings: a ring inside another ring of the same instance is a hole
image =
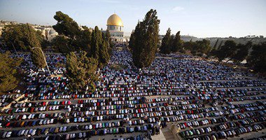
[[266, 0], [0, 0], [0, 20], [55, 25], [61, 10], [79, 25], [106, 29], [115, 11], [131, 32], [151, 8], [158, 11], [160, 34], [197, 37], [266, 36]]

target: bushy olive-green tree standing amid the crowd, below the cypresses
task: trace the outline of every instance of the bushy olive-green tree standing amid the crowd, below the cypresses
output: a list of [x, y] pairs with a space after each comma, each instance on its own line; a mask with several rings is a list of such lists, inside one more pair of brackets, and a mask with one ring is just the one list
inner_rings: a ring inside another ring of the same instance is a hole
[[70, 52], [66, 55], [66, 77], [69, 78], [69, 89], [71, 91], [82, 90], [89, 85], [89, 90], [95, 89], [94, 81], [97, 80], [95, 71], [97, 70], [97, 59], [87, 57], [86, 52], [75, 55]]

